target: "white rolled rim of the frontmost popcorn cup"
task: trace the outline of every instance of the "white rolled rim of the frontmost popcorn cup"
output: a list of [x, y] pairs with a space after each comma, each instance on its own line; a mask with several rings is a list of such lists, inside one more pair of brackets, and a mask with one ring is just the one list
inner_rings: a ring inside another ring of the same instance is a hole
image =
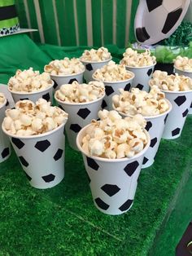
[[89, 157], [89, 158], [92, 158], [94, 160], [98, 160], [98, 161], [104, 161], [104, 162], [121, 162], [121, 161], [132, 161], [138, 157], [141, 157], [142, 155], [144, 156], [146, 150], [149, 148], [150, 146], [150, 143], [151, 143], [151, 137], [148, 133], [148, 131], [146, 129], [144, 129], [144, 132], [146, 134], [146, 137], [147, 137], [147, 143], [146, 143], [146, 147], [142, 149], [141, 152], [138, 152], [134, 157], [131, 157], [131, 158], [128, 158], [128, 157], [124, 157], [124, 158], [116, 158], [116, 159], [109, 159], [109, 158], [103, 158], [103, 157], [95, 157], [95, 156], [89, 156], [82, 148], [81, 148], [81, 145], [79, 143], [79, 138], [80, 138], [80, 135], [82, 134], [82, 132], [84, 130], [86, 130], [91, 124], [87, 125], [87, 126], [84, 126], [77, 134], [76, 136], [76, 146], [77, 148], [80, 150], [80, 152], [82, 154], [84, 154], [86, 157]]

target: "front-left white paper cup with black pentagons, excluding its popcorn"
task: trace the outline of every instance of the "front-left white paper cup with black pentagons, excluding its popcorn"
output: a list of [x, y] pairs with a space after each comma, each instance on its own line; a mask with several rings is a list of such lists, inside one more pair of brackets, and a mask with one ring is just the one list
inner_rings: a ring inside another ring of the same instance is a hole
[[52, 188], [64, 177], [64, 124], [41, 135], [16, 136], [7, 133], [20, 164], [34, 188]]

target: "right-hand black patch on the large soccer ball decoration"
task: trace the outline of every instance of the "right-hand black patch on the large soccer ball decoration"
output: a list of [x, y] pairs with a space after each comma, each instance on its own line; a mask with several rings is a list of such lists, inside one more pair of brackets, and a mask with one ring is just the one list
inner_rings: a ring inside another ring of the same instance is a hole
[[182, 10], [182, 8], [178, 8], [177, 10], [168, 13], [167, 19], [164, 23], [164, 28], [162, 29], [162, 33], [166, 34], [172, 29], [172, 27], [177, 23], [177, 20], [179, 19]]

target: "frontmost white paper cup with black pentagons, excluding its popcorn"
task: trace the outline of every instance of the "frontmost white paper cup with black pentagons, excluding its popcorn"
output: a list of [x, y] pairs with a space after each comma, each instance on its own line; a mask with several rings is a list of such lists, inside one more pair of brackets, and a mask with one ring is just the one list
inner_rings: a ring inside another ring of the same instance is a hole
[[89, 157], [81, 148], [88, 127], [85, 126], [79, 132], [76, 144], [83, 156], [94, 205], [104, 214], [124, 214], [133, 205], [143, 157], [150, 145], [150, 135], [146, 131], [146, 147], [132, 158]]

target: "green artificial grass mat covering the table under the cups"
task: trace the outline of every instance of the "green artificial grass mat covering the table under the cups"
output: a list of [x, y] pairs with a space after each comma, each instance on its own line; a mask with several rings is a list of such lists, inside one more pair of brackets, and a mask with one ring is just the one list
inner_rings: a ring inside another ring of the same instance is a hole
[[187, 117], [181, 139], [162, 139], [133, 208], [119, 216], [95, 208], [81, 153], [68, 143], [65, 178], [46, 190], [29, 185], [13, 152], [0, 164], [0, 255], [147, 255], [190, 172], [191, 127]]

